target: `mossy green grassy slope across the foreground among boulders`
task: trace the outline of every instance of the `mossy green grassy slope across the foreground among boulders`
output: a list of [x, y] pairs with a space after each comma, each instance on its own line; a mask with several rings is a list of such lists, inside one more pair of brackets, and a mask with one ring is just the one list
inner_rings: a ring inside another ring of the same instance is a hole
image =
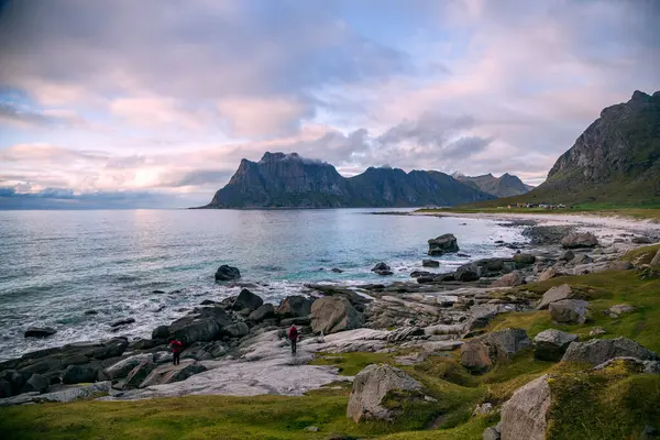
[[[659, 246], [627, 256], [646, 262]], [[624, 336], [660, 352], [660, 279], [640, 279], [635, 271], [608, 272], [580, 277], [554, 278], [519, 288], [517, 295], [538, 296], [549, 287], [570, 283], [587, 297], [593, 322], [564, 326], [584, 340], [594, 326], [604, 327], [601, 338]], [[602, 311], [614, 304], [630, 304], [636, 312], [618, 319]], [[488, 330], [524, 328], [530, 337], [552, 326], [547, 311], [506, 314]], [[354, 375], [373, 362], [393, 363], [391, 354], [345, 353], [321, 358]], [[483, 376], [472, 376], [460, 366], [458, 353], [431, 356], [416, 366], [405, 366], [419, 380], [433, 404], [403, 404], [405, 416], [395, 424], [353, 424], [345, 417], [350, 389], [336, 386], [301, 397], [187, 396], [141, 402], [78, 402], [0, 408], [3, 439], [326, 439], [330, 433], [386, 440], [480, 439], [496, 416], [472, 418], [482, 402], [501, 404], [519, 386], [544, 373], [554, 373], [557, 404], [551, 411], [550, 438], [637, 438], [644, 425], [660, 426], [660, 376], [601, 375], [580, 372], [578, 365], [536, 361], [520, 353]], [[575, 398], [578, 396], [578, 398]], [[393, 404], [397, 404], [394, 402]], [[576, 424], [575, 421], [580, 421]], [[439, 429], [428, 429], [429, 426]], [[306, 431], [317, 426], [319, 432]]]

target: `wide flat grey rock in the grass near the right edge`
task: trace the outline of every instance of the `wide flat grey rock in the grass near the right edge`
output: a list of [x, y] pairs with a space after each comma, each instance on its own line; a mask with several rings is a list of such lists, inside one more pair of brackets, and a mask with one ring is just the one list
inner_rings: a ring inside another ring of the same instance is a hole
[[658, 355], [637, 341], [627, 338], [592, 339], [586, 342], [573, 342], [569, 345], [562, 362], [585, 362], [602, 364], [614, 358], [630, 356], [642, 361], [654, 361]]

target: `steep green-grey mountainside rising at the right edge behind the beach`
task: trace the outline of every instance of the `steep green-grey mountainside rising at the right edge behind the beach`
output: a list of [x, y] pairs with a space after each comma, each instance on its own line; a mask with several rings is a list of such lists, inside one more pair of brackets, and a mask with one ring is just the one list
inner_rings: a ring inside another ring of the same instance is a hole
[[528, 194], [481, 205], [515, 202], [660, 204], [660, 91], [604, 109]]

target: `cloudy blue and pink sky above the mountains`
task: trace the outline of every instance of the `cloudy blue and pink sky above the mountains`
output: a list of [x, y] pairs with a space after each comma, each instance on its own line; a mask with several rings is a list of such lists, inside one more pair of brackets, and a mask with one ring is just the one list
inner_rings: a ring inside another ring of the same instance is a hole
[[206, 205], [241, 158], [541, 183], [660, 89], [657, 0], [0, 0], [0, 209]]

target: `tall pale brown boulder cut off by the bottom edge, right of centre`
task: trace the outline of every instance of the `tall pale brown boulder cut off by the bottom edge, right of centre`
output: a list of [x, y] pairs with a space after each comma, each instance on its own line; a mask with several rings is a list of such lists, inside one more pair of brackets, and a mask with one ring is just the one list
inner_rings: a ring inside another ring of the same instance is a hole
[[517, 389], [502, 406], [502, 438], [506, 440], [544, 440], [551, 394], [548, 375]]

